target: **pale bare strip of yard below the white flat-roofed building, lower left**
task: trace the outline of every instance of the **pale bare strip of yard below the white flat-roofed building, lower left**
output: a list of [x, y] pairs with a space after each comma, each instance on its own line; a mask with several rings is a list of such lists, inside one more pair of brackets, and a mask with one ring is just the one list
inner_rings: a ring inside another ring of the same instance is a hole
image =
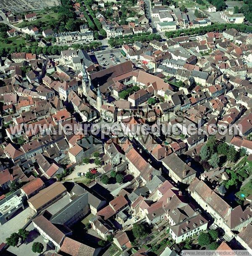
[[7, 237], [14, 232], [18, 232], [18, 229], [23, 228], [29, 219], [34, 216], [34, 214], [35, 212], [30, 207], [27, 207], [15, 217], [5, 222], [5, 224], [0, 225], [0, 243], [5, 243]]

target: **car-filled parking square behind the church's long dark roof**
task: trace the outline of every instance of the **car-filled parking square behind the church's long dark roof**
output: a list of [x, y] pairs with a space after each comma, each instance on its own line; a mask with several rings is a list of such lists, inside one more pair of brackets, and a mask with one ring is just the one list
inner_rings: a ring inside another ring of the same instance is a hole
[[99, 51], [95, 53], [95, 57], [102, 67], [115, 66], [126, 61], [120, 49], [105, 52]]

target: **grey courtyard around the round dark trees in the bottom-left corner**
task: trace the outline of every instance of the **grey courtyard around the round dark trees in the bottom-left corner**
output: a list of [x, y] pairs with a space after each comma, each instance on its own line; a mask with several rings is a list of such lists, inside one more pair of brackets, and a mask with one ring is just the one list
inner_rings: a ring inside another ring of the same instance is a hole
[[7, 251], [13, 253], [17, 256], [38, 256], [38, 253], [34, 253], [32, 251], [32, 245], [34, 242], [39, 242], [44, 245], [44, 251], [43, 253], [46, 254], [47, 252], [53, 253], [54, 250], [50, 248], [45, 241], [43, 240], [43, 237], [39, 235], [39, 233], [34, 229], [33, 224], [31, 223], [26, 230], [29, 231], [29, 237], [27, 238], [26, 242], [19, 245], [18, 247], [12, 247], [10, 246]]

